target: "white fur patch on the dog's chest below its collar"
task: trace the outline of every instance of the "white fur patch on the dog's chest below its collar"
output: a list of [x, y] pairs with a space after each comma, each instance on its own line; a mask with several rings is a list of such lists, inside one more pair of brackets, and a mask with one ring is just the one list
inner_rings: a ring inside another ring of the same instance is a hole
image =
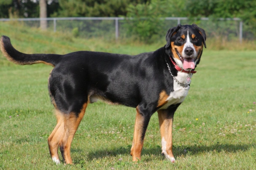
[[[178, 72], [178, 75], [175, 77], [182, 84], [186, 84], [188, 73]], [[175, 80], [173, 80], [173, 90], [169, 97], [166, 99], [167, 104], [164, 104], [160, 109], [167, 109], [172, 104], [182, 103], [186, 96], [189, 93], [189, 90], [186, 90], [183, 86], [179, 85]]]

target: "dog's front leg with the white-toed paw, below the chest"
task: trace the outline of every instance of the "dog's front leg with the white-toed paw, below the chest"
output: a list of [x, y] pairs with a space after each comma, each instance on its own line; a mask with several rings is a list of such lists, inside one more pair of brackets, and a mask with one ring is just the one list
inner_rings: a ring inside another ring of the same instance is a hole
[[162, 154], [169, 159], [172, 163], [175, 158], [172, 153], [172, 122], [173, 115], [178, 106], [170, 106], [169, 109], [158, 110], [160, 133], [162, 138]]

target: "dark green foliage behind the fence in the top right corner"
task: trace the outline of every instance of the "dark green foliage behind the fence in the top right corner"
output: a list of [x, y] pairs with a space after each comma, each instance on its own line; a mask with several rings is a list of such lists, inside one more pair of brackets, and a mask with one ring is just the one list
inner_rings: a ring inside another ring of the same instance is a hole
[[255, 0], [189, 0], [185, 9], [190, 17], [241, 18], [256, 35]]

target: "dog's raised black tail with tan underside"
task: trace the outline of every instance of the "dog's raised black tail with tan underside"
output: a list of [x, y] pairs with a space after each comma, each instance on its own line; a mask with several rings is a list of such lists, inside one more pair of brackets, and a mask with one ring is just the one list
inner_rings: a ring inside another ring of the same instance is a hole
[[2, 36], [0, 40], [0, 47], [3, 55], [11, 62], [19, 65], [43, 63], [55, 66], [60, 59], [58, 54], [24, 54], [17, 51], [11, 45], [9, 37]]

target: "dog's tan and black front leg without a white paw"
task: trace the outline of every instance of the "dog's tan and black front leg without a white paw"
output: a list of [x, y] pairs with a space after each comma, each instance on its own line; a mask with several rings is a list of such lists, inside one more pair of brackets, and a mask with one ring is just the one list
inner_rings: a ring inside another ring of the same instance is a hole
[[143, 147], [143, 142], [148, 127], [148, 122], [151, 117], [151, 113], [147, 112], [145, 109], [140, 109], [140, 106], [136, 108], [136, 120], [131, 148], [132, 161], [141, 160], [141, 151]]

